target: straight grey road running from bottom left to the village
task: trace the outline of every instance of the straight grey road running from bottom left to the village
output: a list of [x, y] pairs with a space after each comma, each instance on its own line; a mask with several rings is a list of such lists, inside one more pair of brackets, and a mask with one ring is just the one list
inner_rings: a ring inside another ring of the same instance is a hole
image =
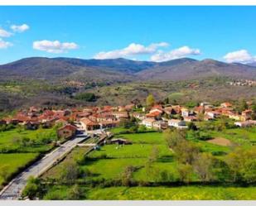
[[17, 175], [0, 193], [0, 199], [19, 199], [21, 197], [22, 189], [27, 184], [29, 177], [38, 177], [54, 165], [62, 156], [65, 156], [70, 152], [78, 143], [85, 141], [85, 137], [75, 137], [69, 141], [66, 141], [56, 150], [44, 156], [41, 160], [36, 161], [27, 170], [24, 170], [21, 174]]

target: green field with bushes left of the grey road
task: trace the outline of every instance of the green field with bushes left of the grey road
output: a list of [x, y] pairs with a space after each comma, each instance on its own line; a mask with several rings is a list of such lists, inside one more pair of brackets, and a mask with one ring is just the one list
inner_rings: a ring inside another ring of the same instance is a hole
[[16, 127], [0, 132], [0, 188], [41, 153], [50, 151], [53, 148], [50, 141], [56, 138], [55, 128], [24, 130]]

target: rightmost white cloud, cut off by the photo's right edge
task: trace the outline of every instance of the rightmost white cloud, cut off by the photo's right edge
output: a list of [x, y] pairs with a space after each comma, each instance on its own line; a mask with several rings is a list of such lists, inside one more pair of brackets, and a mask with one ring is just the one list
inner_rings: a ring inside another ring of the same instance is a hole
[[256, 61], [256, 56], [249, 54], [248, 50], [236, 50], [223, 57], [228, 63], [250, 63]]

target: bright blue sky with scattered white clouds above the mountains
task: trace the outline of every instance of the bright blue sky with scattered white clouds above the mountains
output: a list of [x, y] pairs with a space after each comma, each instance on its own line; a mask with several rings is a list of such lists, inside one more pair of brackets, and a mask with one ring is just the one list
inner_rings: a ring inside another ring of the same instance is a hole
[[256, 7], [0, 7], [0, 64], [25, 57], [256, 61]]

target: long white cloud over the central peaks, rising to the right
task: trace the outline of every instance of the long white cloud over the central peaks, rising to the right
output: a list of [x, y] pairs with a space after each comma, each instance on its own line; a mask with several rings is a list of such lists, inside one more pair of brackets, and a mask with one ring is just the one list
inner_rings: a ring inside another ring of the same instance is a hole
[[145, 55], [152, 54], [157, 51], [159, 47], [167, 47], [169, 44], [167, 42], [152, 43], [149, 46], [143, 46], [140, 44], [132, 43], [121, 50], [110, 50], [101, 51], [94, 55], [95, 59], [115, 59], [120, 57], [128, 57], [133, 55]]

